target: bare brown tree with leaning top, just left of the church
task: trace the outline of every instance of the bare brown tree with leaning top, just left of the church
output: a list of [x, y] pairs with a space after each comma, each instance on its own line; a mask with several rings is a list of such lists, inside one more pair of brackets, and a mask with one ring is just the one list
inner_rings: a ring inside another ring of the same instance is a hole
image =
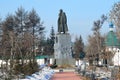
[[100, 20], [94, 21], [92, 28], [93, 35], [89, 36], [88, 38], [87, 52], [89, 53], [90, 57], [94, 57], [92, 59], [96, 60], [97, 64], [100, 59], [103, 44], [103, 37], [100, 34], [100, 29], [106, 19], [107, 17], [102, 15]]

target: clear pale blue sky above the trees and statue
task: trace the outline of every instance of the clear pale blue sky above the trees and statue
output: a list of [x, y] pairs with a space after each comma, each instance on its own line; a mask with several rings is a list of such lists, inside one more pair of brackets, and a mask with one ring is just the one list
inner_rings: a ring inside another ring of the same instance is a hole
[[[49, 35], [53, 26], [57, 31], [57, 19], [59, 10], [67, 15], [67, 24], [72, 40], [77, 35], [82, 35], [86, 42], [93, 22], [100, 19], [102, 14], [108, 15], [115, 2], [119, 0], [0, 0], [0, 17], [4, 20], [8, 13], [14, 12], [22, 6], [25, 10], [30, 11], [32, 8], [44, 21], [46, 33]], [[104, 34], [108, 32], [109, 23], [106, 22], [101, 29]]]

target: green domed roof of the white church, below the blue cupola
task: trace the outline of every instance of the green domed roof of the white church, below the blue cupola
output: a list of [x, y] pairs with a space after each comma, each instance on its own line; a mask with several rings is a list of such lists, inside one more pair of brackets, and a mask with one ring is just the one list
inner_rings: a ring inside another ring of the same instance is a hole
[[119, 40], [113, 31], [110, 31], [106, 36], [105, 46], [120, 46]]

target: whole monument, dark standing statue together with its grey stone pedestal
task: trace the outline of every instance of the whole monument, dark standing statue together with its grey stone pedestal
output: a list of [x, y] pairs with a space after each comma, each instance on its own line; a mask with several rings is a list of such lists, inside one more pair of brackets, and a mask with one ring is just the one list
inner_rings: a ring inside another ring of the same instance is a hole
[[68, 32], [67, 17], [60, 9], [58, 17], [58, 34], [55, 37], [54, 58], [58, 66], [74, 65], [72, 58], [71, 36]]

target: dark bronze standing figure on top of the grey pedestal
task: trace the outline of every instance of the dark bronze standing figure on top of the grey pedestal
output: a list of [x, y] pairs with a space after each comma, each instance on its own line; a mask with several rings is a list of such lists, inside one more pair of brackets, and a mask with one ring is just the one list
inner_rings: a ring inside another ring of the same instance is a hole
[[58, 18], [58, 32], [66, 33], [67, 31], [68, 31], [67, 17], [65, 12], [63, 12], [63, 10], [60, 9], [59, 18]]

